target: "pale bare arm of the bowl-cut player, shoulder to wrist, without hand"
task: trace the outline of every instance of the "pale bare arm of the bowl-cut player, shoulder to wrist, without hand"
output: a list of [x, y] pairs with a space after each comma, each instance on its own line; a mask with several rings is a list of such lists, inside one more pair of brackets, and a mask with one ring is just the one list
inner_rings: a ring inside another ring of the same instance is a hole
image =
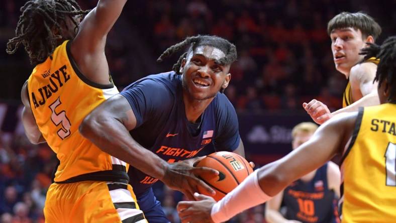
[[349, 74], [352, 99], [349, 106], [334, 111], [337, 115], [349, 111], [357, 111], [359, 107], [378, 105], [377, 82], [373, 82], [377, 66], [374, 63], [361, 63], [352, 67]]

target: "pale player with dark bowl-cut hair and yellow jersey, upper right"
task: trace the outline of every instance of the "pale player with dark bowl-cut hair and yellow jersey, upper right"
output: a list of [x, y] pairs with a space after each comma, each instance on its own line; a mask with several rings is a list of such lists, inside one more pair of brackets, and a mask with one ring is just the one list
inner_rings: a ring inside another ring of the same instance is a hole
[[374, 43], [381, 34], [381, 27], [367, 14], [343, 12], [331, 19], [327, 25], [331, 38], [331, 50], [336, 69], [348, 79], [343, 95], [343, 108], [333, 113], [326, 104], [316, 99], [303, 103], [307, 113], [318, 124], [323, 124], [334, 115], [357, 111], [360, 106], [379, 104], [373, 82], [378, 60], [375, 57], [363, 60], [359, 52]]

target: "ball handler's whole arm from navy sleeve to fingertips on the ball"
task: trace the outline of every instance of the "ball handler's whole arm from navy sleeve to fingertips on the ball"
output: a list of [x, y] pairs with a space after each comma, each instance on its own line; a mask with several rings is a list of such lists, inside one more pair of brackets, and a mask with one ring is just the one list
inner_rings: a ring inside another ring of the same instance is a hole
[[[80, 133], [97, 147], [140, 171], [155, 177], [172, 189], [183, 192], [189, 199], [197, 186], [215, 191], [195, 175], [218, 171], [207, 167], [192, 167], [189, 161], [168, 164], [150, 150], [142, 147], [129, 134], [136, 127], [136, 116], [128, 100], [117, 94], [97, 106], [82, 122]], [[198, 161], [200, 157], [194, 158]]]

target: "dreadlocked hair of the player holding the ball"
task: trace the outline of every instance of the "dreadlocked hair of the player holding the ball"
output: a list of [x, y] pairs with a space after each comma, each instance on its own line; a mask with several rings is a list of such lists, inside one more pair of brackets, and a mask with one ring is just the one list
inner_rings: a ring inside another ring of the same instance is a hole
[[218, 36], [197, 35], [187, 37], [183, 41], [170, 46], [161, 54], [161, 56], [158, 57], [157, 62], [162, 62], [164, 58], [173, 55], [173, 53], [184, 49], [184, 47], [188, 45], [190, 45], [188, 51], [183, 53], [177, 60], [177, 63], [175, 63], [172, 67], [172, 70], [177, 74], [180, 74], [180, 67], [183, 58], [185, 58], [188, 53], [193, 51], [198, 46], [212, 46], [223, 51], [226, 56], [217, 61], [217, 63], [220, 65], [228, 65], [237, 60], [237, 48], [228, 40]]

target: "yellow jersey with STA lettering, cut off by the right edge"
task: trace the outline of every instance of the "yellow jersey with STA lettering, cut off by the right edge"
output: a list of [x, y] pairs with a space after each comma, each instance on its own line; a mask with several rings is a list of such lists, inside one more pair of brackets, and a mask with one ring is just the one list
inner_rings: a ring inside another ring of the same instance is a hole
[[396, 104], [359, 110], [352, 140], [341, 159], [342, 222], [396, 219]]

